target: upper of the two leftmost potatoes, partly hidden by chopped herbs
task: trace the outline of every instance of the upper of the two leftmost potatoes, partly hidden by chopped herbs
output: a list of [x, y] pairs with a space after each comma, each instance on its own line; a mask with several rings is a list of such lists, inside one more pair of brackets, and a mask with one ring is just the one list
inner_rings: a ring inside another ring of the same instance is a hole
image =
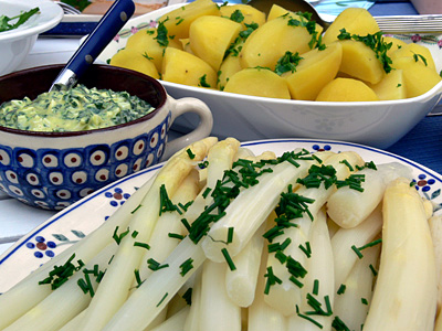
[[[169, 39], [168, 45], [171, 47], [181, 49], [181, 45], [175, 39]], [[166, 46], [162, 46], [158, 43], [157, 29], [143, 29], [130, 35], [127, 40], [126, 49], [135, 50], [149, 57], [157, 67], [157, 71], [161, 70], [162, 53], [165, 52]]]

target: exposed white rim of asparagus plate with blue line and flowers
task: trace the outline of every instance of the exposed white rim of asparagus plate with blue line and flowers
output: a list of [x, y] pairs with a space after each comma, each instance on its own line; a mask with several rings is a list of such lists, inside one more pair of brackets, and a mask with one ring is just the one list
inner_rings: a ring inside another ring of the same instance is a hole
[[[442, 212], [442, 196], [440, 195], [442, 175], [406, 158], [382, 150], [350, 142], [309, 139], [261, 140], [245, 142], [242, 146], [256, 154], [272, 150], [281, 156], [284, 151], [305, 148], [311, 152], [317, 150], [356, 151], [365, 161], [373, 161], [378, 164], [399, 162], [411, 168], [417, 190], [433, 203], [435, 213]], [[103, 224], [160, 167], [161, 164], [158, 164], [134, 173], [86, 196], [23, 236], [0, 256], [0, 293]]]

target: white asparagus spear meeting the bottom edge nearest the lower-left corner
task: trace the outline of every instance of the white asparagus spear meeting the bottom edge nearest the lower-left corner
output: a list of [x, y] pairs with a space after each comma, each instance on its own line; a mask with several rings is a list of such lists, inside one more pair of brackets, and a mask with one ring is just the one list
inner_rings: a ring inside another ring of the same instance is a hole
[[[75, 273], [63, 286], [53, 290], [44, 300], [3, 330], [56, 331], [62, 328], [90, 305], [91, 297], [98, 287], [96, 277], [98, 277], [98, 273], [106, 271], [108, 261], [116, 252], [116, 246], [115, 243], [107, 245], [81, 271]], [[97, 268], [96, 276], [90, 271], [84, 273], [84, 270], [94, 270], [94, 268]], [[80, 279], [90, 280], [85, 284], [90, 284], [92, 293], [85, 293], [81, 289], [77, 284]]]

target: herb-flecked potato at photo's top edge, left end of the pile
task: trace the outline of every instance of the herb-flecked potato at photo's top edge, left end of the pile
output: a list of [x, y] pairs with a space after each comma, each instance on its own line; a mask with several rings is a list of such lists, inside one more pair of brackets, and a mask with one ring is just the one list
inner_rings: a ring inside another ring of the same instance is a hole
[[189, 38], [190, 24], [204, 15], [219, 15], [218, 4], [212, 0], [196, 0], [187, 6], [177, 8], [158, 19], [164, 22], [168, 34], [176, 39]]

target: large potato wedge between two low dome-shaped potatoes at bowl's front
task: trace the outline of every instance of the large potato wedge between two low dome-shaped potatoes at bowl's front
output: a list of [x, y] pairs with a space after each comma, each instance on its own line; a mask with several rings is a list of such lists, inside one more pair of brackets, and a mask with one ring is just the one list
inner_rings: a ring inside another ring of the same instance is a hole
[[302, 55], [294, 73], [285, 74], [291, 96], [299, 100], [314, 100], [320, 89], [338, 73], [343, 58], [340, 43], [332, 43], [324, 51], [312, 50]]

